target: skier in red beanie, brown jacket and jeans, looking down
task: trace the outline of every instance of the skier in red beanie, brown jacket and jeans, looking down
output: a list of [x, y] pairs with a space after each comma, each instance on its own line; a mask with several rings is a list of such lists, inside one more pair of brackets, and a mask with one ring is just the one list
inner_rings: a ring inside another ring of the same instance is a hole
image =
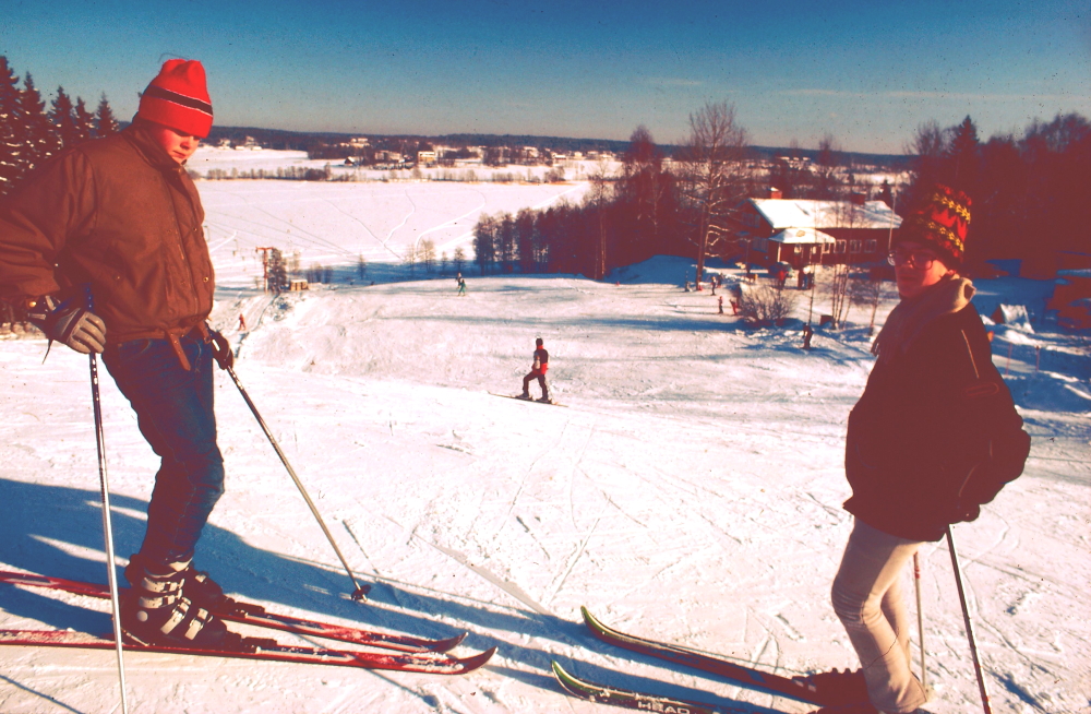
[[165, 62], [130, 127], [62, 152], [0, 203], [0, 297], [24, 300], [50, 341], [101, 353], [161, 459], [125, 569], [127, 636], [230, 647], [238, 635], [214, 616], [230, 600], [192, 564], [224, 492], [213, 361], [231, 359], [205, 324], [215, 283], [184, 168], [211, 128], [204, 68]]

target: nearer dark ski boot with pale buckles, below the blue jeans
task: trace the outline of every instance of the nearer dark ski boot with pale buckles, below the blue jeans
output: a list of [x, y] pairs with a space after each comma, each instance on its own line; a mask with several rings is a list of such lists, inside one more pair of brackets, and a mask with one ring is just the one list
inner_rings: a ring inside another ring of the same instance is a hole
[[189, 561], [149, 567], [136, 558], [129, 563], [125, 578], [132, 588], [121, 603], [125, 636], [145, 645], [241, 648], [240, 635], [182, 594], [190, 568]]

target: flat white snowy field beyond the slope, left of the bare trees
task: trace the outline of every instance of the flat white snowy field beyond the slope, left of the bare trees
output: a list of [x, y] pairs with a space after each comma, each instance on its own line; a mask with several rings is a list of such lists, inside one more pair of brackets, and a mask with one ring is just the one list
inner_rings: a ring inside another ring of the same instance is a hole
[[[435, 247], [436, 267], [463, 248], [472, 259], [473, 226], [482, 215], [579, 203], [588, 182], [464, 183], [394, 181], [325, 183], [271, 179], [199, 181], [208, 245], [221, 287], [254, 287], [257, 248], [279, 249], [299, 266], [334, 269], [337, 281], [384, 282], [401, 276], [410, 246]], [[361, 257], [367, 273], [360, 275]], [[468, 266], [468, 264], [467, 264]], [[463, 269], [466, 271], [466, 267]], [[424, 274], [418, 261], [417, 271]]]

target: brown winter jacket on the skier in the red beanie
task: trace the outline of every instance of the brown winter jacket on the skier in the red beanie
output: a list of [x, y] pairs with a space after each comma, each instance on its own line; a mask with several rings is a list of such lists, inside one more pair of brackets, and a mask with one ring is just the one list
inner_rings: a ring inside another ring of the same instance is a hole
[[215, 287], [185, 169], [139, 124], [50, 159], [0, 201], [0, 297], [89, 283], [108, 345], [203, 328]]

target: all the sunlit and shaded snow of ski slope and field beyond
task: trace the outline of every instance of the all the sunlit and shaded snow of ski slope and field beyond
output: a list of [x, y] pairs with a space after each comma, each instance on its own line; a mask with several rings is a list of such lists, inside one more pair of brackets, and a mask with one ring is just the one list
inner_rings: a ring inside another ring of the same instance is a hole
[[[805, 353], [798, 329], [747, 330], [717, 314], [707, 291], [683, 293], [692, 263], [663, 258], [604, 282], [467, 271], [465, 297], [449, 278], [339, 279], [273, 299], [252, 289], [250, 253], [289, 227], [293, 249], [343, 255], [348, 270], [408, 230], [404, 221], [428, 214], [413, 230], [449, 246], [472, 227], [472, 206], [536, 205], [554, 198], [536, 191], [554, 187], [518, 187], [515, 198], [500, 190], [516, 187], [489, 186], [471, 199], [454, 191], [483, 189], [199, 186], [223, 285], [213, 321], [374, 590], [368, 605], [348, 599], [348, 578], [223, 373], [228, 492], [199, 567], [269, 609], [429, 636], [468, 630], [456, 653], [500, 651], [453, 678], [129, 654], [132, 711], [611, 711], [561, 693], [551, 659], [620, 687], [754, 712], [811, 709], [603, 645], [578, 623], [580, 605], [621, 629], [780, 674], [856, 666], [828, 590], [851, 526], [840, 508], [843, 431], [873, 361], [867, 316], [850, 316], [863, 328], [819, 331]], [[1014, 278], [979, 287], [986, 314], [999, 301], [1034, 312], [1048, 289]], [[807, 307], [801, 299], [796, 314]], [[1091, 357], [1086, 336], [1035, 330], [1000, 326], [993, 343], [1033, 437], [1026, 474], [956, 535], [994, 711], [1088, 712]], [[518, 391], [538, 335], [566, 408], [489, 394]], [[87, 358], [55, 348], [43, 365], [44, 352], [44, 341], [0, 343], [0, 561], [105, 582]], [[103, 402], [123, 559], [142, 536], [156, 459], [109, 379]], [[926, 709], [980, 711], [946, 545], [922, 556]], [[0, 628], [109, 627], [101, 603], [0, 586]], [[0, 648], [2, 712], [117, 706], [112, 652]]]

